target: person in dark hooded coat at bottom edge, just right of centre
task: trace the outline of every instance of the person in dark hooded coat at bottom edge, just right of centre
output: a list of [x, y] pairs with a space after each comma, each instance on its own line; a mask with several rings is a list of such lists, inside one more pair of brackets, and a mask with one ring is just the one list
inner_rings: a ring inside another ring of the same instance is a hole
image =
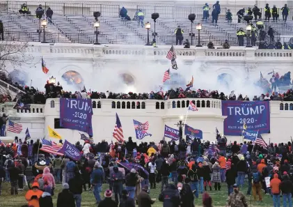
[[174, 184], [166, 185], [166, 188], [159, 194], [159, 201], [163, 202], [163, 207], [180, 206], [180, 195]]

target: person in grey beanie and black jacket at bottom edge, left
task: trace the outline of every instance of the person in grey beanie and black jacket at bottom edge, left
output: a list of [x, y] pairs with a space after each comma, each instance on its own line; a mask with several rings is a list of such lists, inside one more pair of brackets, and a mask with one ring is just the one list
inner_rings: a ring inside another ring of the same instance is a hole
[[62, 187], [62, 192], [58, 194], [57, 207], [75, 207], [74, 197], [72, 192], [69, 191], [68, 183], [63, 183]]

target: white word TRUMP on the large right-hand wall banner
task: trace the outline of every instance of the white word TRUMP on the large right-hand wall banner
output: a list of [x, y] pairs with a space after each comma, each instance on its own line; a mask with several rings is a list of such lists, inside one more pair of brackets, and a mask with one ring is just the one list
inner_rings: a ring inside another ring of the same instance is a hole
[[[255, 114], [262, 114], [265, 109], [264, 105], [255, 107], [227, 107], [229, 109], [229, 116], [248, 116]], [[234, 112], [234, 113], [233, 113]]]

